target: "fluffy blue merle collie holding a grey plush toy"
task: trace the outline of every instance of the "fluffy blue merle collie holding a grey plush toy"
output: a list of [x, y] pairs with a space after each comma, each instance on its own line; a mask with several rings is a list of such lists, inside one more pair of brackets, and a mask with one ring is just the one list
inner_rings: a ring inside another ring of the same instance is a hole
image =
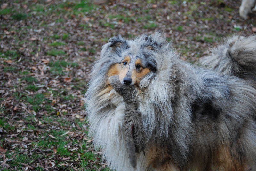
[[[111, 38], [85, 94], [90, 135], [110, 168], [255, 171], [255, 47], [256, 35], [234, 35], [195, 65], [181, 60], [163, 33]], [[118, 87], [136, 90], [145, 148], [135, 154], [135, 165], [124, 130], [129, 97]]]

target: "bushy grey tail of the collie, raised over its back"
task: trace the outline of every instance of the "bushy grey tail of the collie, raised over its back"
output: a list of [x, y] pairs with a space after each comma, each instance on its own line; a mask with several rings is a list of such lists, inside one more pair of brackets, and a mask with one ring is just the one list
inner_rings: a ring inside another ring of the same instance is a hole
[[201, 63], [217, 72], [256, 83], [256, 35], [232, 36], [209, 51]]

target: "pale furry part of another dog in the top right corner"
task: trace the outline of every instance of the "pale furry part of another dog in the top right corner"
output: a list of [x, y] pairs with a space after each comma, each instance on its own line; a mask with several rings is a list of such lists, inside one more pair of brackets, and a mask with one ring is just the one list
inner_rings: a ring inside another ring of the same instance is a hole
[[242, 0], [242, 4], [239, 8], [239, 15], [243, 19], [248, 19], [248, 14], [256, 11], [256, 0]]

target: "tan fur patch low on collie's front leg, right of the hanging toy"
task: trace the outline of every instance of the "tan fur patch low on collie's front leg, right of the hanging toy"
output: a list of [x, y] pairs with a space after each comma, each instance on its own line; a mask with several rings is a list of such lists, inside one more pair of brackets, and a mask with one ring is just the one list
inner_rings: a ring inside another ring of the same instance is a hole
[[148, 161], [147, 168], [153, 167], [159, 171], [178, 171], [179, 169], [172, 163], [172, 157], [161, 146], [151, 146], [146, 153]]

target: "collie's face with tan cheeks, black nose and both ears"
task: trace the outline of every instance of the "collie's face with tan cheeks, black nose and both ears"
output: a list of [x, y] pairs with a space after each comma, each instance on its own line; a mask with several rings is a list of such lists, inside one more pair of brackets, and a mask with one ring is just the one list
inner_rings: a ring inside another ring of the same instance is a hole
[[109, 40], [108, 57], [113, 61], [107, 77], [118, 75], [125, 85], [139, 86], [140, 80], [150, 72], [156, 72], [154, 46], [150, 37], [142, 37], [134, 41], [122, 37]]

